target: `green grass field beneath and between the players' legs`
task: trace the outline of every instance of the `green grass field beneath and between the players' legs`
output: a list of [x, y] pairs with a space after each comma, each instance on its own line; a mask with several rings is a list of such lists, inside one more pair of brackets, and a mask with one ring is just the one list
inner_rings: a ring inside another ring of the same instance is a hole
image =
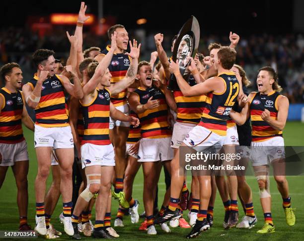
[[[285, 145], [304, 145], [304, 124], [300, 122], [289, 122], [286, 125], [284, 131]], [[34, 227], [35, 223], [35, 193], [34, 193], [34, 180], [37, 172], [37, 162], [36, 155], [33, 148], [33, 133], [25, 130], [25, 137], [29, 146], [29, 155], [30, 155], [30, 169], [28, 174], [28, 192], [29, 192], [29, 206], [28, 206], [28, 221], [29, 224]], [[253, 192], [253, 203], [254, 210], [258, 218], [257, 225], [251, 230], [237, 230], [231, 229], [225, 231], [223, 229], [222, 223], [224, 219], [224, 207], [221, 201], [220, 195], [217, 194], [216, 204], [215, 204], [215, 218], [214, 226], [208, 232], [201, 234], [199, 239], [208, 239], [208, 240], [303, 240], [303, 231], [304, 231], [304, 176], [290, 176], [287, 177], [290, 187], [290, 195], [292, 197], [292, 206], [297, 208], [296, 211], [296, 225], [293, 227], [287, 226], [285, 222], [285, 214], [282, 208], [282, 198], [280, 193], [277, 190], [275, 181], [271, 178], [271, 194], [272, 194], [272, 216], [274, 224], [276, 227], [276, 232], [273, 234], [267, 235], [258, 235], [256, 231], [261, 228], [264, 224], [263, 212], [259, 202], [258, 186], [254, 177], [247, 177], [247, 182], [250, 185]], [[190, 186], [190, 178], [188, 177], [188, 187]], [[48, 184], [51, 183], [49, 178]], [[163, 173], [159, 179], [159, 207], [163, 198], [165, 191], [164, 177]], [[140, 201], [140, 213], [143, 212], [143, 174], [142, 170], [139, 171], [135, 185], [133, 188], [133, 196]], [[114, 219], [117, 212], [117, 201], [113, 199], [112, 201], [112, 226], [114, 225]], [[240, 209], [240, 218], [243, 216], [243, 211], [241, 210], [241, 205], [239, 202]], [[63, 226], [58, 220], [59, 214], [62, 212], [62, 202], [61, 199], [56, 207], [56, 210], [52, 216], [51, 223], [55, 226], [57, 230], [63, 232]], [[184, 212], [184, 217], [186, 220], [188, 211]], [[92, 212], [92, 220], [94, 220], [94, 211]], [[8, 170], [6, 174], [6, 179], [0, 190], [0, 230], [17, 230], [19, 226], [18, 221], [18, 209], [16, 205], [16, 187], [15, 181], [11, 169]], [[140, 219], [140, 223], [143, 220]], [[158, 232], [157, 236], [150, 237], [145, 231], [139, 231], [140, 226], [138, 224], [131, 224], [130, 217], [127, 216], [124, 218], [124, 228], [115, 228], [117, 233], [120, 235], [119, 240], [144, 240], [149, 241], [159, 241], [159, 240], [168, 240], [176, 241], [183, 239], [189, 232], [190, 229], [181, 229], [181, 228], [171, 228], [170, 234], [165, 234], [160, 227], [156, 227]], [[63, 232], [64, 233], [64, 232]], [[42, 239], [42, 238], [39, 238]], [[25, 239], [22, 239], [25, 240]], [[70, 240], [70, 238], [63, 234], [61, 238], [57, 240]], [[82, 240], [91, 240], [87, 238], [82, 238]]]

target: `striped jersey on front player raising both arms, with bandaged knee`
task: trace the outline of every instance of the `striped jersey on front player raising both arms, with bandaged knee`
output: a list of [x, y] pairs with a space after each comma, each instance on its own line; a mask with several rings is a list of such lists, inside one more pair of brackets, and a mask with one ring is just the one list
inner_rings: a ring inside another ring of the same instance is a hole
[[97, 90], [97, 95], [88, 104], [82, 105], [84, 132], [81, 145], [109, 145], [109, 121], [111, 93], [107, 88]]

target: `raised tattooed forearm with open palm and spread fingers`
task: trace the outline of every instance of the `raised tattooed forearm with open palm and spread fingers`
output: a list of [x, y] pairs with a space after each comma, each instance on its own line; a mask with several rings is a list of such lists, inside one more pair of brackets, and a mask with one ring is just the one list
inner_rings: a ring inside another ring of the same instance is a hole
[[[125, 54], [127, 54], [131, 57], [131, 64], [127, 71], [126, 77], [109, 87], [109, 90], [111, 91], [112, 95], [116, 95], [116, 94], [122, 92], [123, 90], [128, 88], [130, 85], [132, 85], [133, 82], [135, 81], [141, 44], [139, 44], [139, 46], [137, 46], [137, 41], [135, 39], [133, 40], [133, 46], [132, 46], [131, 41], [129, 43], [130, 43], [131, 51], [130, 51], [130, 53], [126, 52]], [[112, 49], [112, 47], [111, 47], [111, 49]]]

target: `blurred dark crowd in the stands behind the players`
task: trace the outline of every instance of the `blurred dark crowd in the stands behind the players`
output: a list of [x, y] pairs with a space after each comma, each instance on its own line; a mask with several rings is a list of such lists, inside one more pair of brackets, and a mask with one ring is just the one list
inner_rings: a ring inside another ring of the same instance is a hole
[[[57, 27], [51, 32], [46, 32], [44, 37], [33, 33], [27, 28], [6, 28], [0, 29], [0, 65], [7, 62], [17, 62], [21, 65], [24, 78], [30, 78], [34, 73], [31, 63], [31, 54], [36, 49], [48, 48], [56, 52], [56, 58], [65, 61], [69, 54], [69, 41], [66, 31], [72, 34], [75, 27]], [[135, 37], [143, 44], [142, 60], [149, 60], [150, 53], [155, 51], [154, 34], [135, 30], [128, 30], [129, 36]], [[163, 47], [170, 55], [171, 39], [173, 34], [164, 33]], [[145, 36], [145, 37], [143, 37]], [[147, 36], [147, 37], [146, 37]], [[130, 38], [131, 38], [130, 37]], [[227, 36], [204, 36], [200, 40], [199, 52], [208, 55], [210, 43], [221, 43], [229, 45]], [[108, 44], [107, 36], [96, 36], [91, 32], [83, 34], [83, 49], [89, 47], [105, 48]], [[236, 48], [237, 64], [244, 67], [249, 80], [252, 82], [252, 89], [255, 88], [255, 80], [258, 69], [265, 65], [274, 67], [279, 74], [279, 84], [283, 87], [283, 94], [288, 96], [291, 103], [304, 102], [304, 36], [286, 34], [284, 36], [252, 35], [242, 36]]]

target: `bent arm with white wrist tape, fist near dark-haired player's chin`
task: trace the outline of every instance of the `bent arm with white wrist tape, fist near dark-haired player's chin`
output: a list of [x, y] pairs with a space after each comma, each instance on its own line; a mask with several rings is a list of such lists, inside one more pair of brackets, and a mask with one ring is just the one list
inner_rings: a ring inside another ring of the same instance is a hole
[[43, 82], [48, 78], [49, 71], [41, 70], [38, 76], [37, 83], [32, 90], [32, 87], [29, 84], [25, 84], [22, 86], [22, 92], [24, 94], [24, 98], [29, 107], [35, 109], [38, 105], [41, 98], [41, 88]]

